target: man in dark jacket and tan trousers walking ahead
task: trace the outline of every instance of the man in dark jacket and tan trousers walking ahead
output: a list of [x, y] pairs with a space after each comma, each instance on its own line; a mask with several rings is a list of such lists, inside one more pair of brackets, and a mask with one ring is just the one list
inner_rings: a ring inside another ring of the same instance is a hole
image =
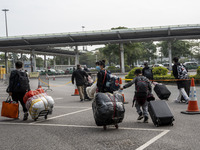
[[[86, 78], [85, 78], [86, 77]], [[72, 84], [74, 84], [74, 78], [76, 79], [76, 86], [80, 95], [80, 101], [84, 100], [84, 85], [87, 81], [87, 73], [81, 69], [81, 65], [77, 65], [77, 70], [72, 74]]]

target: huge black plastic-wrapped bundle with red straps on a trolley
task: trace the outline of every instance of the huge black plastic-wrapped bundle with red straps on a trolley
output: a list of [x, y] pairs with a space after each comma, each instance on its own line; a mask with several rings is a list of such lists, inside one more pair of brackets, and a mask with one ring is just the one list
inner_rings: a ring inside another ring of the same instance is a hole
[[97, 126], [116, 125], [124, 119], [123, 96], [118, 93], [97, 93], [92, 109]]

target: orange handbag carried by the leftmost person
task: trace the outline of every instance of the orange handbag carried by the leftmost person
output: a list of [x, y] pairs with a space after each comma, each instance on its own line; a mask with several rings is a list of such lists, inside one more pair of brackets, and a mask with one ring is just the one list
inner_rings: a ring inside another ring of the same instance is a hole
[[18, 118], [19, 115], [19, 103], [12, 100], [11, 96], [8, 96], [6, 101], [2, 102], [1, 116], [8, 118]]

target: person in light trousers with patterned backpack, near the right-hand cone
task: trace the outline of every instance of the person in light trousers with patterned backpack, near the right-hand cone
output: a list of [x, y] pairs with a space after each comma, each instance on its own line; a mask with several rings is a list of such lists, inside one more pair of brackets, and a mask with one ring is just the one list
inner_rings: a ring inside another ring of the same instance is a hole
[[187, 68], [184, 65], [179, 63], [178, 57], [174, 57], [173, 61], [174, 61], [174, 65], [173, 65], [173, 68], [172, 68], [173, 75], [174, 75], [175, 79], [179, 80], [179, 81], [176, 82], [178, 90], [179, 90], [179, 95], [174, 102], [180, 103], [181, 102], [181, 96], [183, 96], [183, 98], [186, 101], [186, 104], [188, 104], [189, 97], [188, 97], [188, 95], [185, 91], [185, 87], [187, 86], [187, 79], [189, 78]]

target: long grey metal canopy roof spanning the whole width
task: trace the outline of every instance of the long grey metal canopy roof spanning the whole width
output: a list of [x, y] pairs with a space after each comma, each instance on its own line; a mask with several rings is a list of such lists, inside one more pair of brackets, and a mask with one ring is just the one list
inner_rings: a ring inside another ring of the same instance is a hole
[[[170, 39], [198, 39], [200, 25], [177, 25], [118, 30], [69, 32], [27, 36], [0, 37], [0, 50], [35, 50], [41, 53], [67, 54], [51, 47], [98, 45]], [[71, 53], [71, 52], [70, 52]], [[72, 53], [71, 53], [72, 54]], [[72, 54], [73, 55], [73, 54]]]

